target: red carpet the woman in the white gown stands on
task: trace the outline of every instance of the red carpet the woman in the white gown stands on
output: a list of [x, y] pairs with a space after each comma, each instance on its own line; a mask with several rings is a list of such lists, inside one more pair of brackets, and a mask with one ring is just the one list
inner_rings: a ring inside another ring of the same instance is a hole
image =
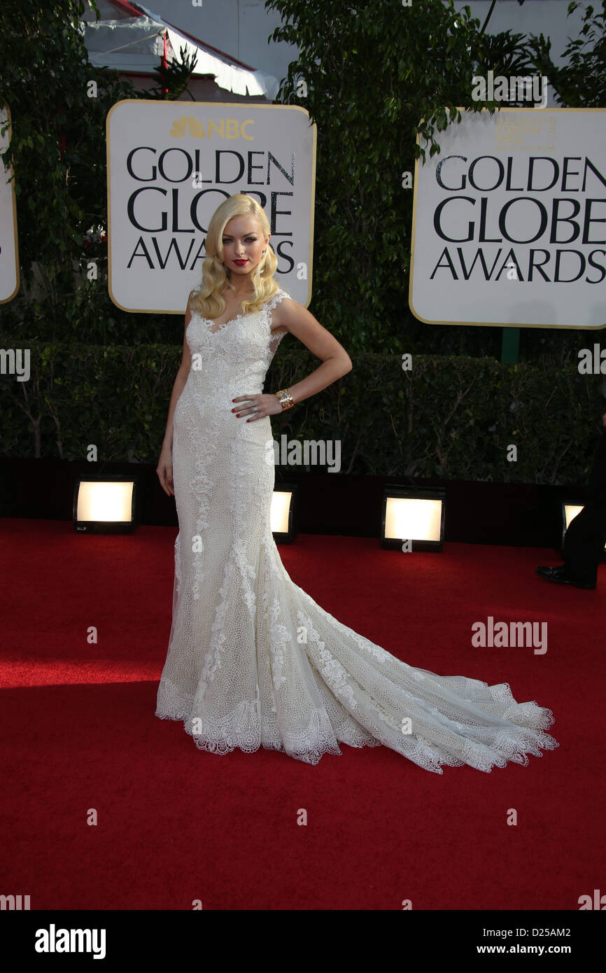
[[[281, 546], [339, 621], [411, 666], [509, 682], [553, 709], [560, 744], [489, 775], [345, 744], [312, 767], [208, 754], [155, 718], [175, 535], [0, 522], [0, 892], [29, 894], [32, 910], [578, 910], [603, 885], [606, 568], [583, 592], [535, 577], [553, 551]], [[547, 622], [548, 651], [475, 648], [488, 616]]]

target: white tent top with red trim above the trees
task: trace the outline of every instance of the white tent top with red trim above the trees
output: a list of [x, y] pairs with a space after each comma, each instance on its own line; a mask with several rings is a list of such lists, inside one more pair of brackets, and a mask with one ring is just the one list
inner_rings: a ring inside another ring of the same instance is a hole
[[214, 79], [222, 92], [273, 101], [279, 82], [273, 75], [256, 71], [229, 54], [186, 35], [160, 15], [141, 4], [125, 0], [105, 0], [97, 3], [101, 19], [89, 12], [85, 18], [85, 44], [89, 61], [98, 67], [108, 67], [128, 75], [154, 78], [154, 68], [162, 59], [168, 63], [179, 60], [180, 50], [196, 54], [192, 89], [196, 79]]

